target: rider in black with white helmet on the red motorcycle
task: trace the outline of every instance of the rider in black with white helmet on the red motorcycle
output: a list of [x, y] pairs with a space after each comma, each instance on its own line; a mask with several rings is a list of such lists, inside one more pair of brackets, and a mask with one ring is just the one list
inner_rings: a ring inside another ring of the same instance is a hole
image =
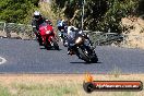
[[43, 46], [43, 38], [39, 35], [39, 25], [43, 24], [44, 22], [47, 22], [48, 24], [51, 25], [51, 22], [47, 19], [45, 19], [44, 16], [41, 16], [40, 12], [35, 11], [34, 12], [34, 16], [32, 20], [32, 27], [33, 27], [33, 32], [36, 35], [36, 39], [39, 43], [39, 46]]

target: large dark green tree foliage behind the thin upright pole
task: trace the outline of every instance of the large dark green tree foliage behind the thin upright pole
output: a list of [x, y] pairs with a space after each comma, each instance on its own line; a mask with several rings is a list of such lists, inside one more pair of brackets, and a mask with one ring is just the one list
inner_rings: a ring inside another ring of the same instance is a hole
[[[63, 13], [80, 27], [83, 0], [55, 0], [55, 8], [65, 10]], [[84, 28], [121, 33], [120, 21], [128, 15], [135, 15], [139, 0], [85, 0]], [[143, 1], [143, 0], [142, 0]], [[141, 1], [141, 2], [142, 2]], [[142, 4], [142, 3], [141, 3]], [[142, 9], [143, 5], [141, 5]], [[77, 12], [79, 11], [79, 12]]]

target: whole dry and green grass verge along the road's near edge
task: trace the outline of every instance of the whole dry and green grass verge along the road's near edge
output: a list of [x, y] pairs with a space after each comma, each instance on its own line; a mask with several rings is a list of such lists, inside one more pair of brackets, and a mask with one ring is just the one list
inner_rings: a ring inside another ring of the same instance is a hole
[[[96, 81], [142, 81], [144, 74], [93, 74]], [[0, 74], [0, 96], [144, 96], [141, 92], [83, 89], [84, 74]]]

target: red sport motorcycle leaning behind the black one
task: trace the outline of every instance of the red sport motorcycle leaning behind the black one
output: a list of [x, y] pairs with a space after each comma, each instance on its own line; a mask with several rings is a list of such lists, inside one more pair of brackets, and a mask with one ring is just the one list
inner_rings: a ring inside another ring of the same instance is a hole
[[43, 38], [43, 44], [46, 49], [55, 48], [59, 50], [59, 45], [56, 39], [56, 34], [53, 33], [53, 28], [48, 23], [43, 23], [39, 25], [39, 34]]

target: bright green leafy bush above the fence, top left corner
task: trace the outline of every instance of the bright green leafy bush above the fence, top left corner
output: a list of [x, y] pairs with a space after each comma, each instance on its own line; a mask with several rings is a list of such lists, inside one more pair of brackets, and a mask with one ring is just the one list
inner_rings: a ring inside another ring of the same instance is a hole
[[1, 0], [0, 21], [26, 23], [29, 12], [37, 5], [38, 0]]

